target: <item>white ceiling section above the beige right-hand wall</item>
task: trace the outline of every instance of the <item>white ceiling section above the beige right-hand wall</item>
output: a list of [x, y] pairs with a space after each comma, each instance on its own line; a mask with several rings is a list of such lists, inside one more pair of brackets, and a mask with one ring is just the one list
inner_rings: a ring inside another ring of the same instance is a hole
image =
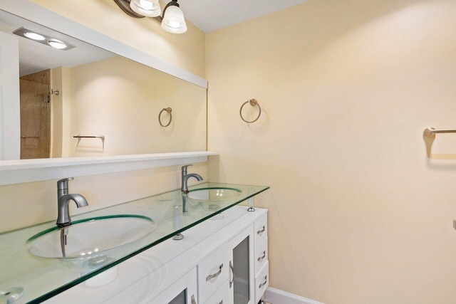
[[185, 19], [204, 33], [274, 13], [309, 0], [179, 0]]

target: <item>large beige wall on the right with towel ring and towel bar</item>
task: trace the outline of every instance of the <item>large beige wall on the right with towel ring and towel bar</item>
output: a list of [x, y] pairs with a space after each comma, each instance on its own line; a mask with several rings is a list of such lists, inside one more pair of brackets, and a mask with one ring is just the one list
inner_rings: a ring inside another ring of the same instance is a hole
[[[456, 127], [455, 11], [311, 0], [207, 34], [209, 179], [271, 186], [257, 199], [271, 287], [456, 303], [456, 163], [427, 159], [423, 141], [425, 127]], [[263, 109], [252, 125], [248, 98]], [[432, 150], [456, 154], [455, 137]]]

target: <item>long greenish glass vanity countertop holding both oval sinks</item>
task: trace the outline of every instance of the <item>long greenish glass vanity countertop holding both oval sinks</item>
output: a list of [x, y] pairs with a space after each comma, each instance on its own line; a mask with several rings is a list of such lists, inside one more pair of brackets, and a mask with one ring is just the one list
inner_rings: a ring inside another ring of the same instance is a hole
[[190, 187], [186, 214], [175, 190], [72, 216], [62, 229], [51, 221], [0, 234], [0, 302], [20, 287], [24, 303], [41, 303], [266, 189], [203, 183]]

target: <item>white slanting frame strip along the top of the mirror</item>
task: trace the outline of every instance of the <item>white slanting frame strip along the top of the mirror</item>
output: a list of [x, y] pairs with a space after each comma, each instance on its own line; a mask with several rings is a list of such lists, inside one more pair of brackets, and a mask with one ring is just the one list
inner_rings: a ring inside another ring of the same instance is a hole
[[2, 1], [0, 9], [27, 19], [28, 21], [46, 26], [55, 31], [66, 33], [68, 36], [85, 41], [93, 46], [103, 48], [106, 51], [110, 51], [119, 56], [129, 58], [143, 65], [147, 65], [150, 68], [155, 68], [155, 70], [160, 70], [163, 73], [175, 76], [207, 90], [206, 79], [190, 73], [189, 71], [176, 65], [162, 61], [161, 59], [156, 58], [149, 53], [140, 51], [133, 46], [129, 46], [128, 44], [115, 40], [114, 38], [105, 36], [105, 34], [95, 31], [92, 28], [88, 28], [81, 23], [67, 19], [66, 17], [56, 14], [53, 11], [49, 11], [43, 6], [33, 4], [29, 0]]

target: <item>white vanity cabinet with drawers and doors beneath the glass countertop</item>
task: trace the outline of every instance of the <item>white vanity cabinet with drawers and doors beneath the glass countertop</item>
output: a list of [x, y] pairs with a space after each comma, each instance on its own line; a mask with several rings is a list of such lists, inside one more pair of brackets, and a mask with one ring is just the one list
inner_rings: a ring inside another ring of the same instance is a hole
[[46, 303], [257, 304], [269, 283], [266, 216], [266, 209], [234, 206], [187, 229], [184, 239], [118, 264], [110, 283], [83, 282]]

